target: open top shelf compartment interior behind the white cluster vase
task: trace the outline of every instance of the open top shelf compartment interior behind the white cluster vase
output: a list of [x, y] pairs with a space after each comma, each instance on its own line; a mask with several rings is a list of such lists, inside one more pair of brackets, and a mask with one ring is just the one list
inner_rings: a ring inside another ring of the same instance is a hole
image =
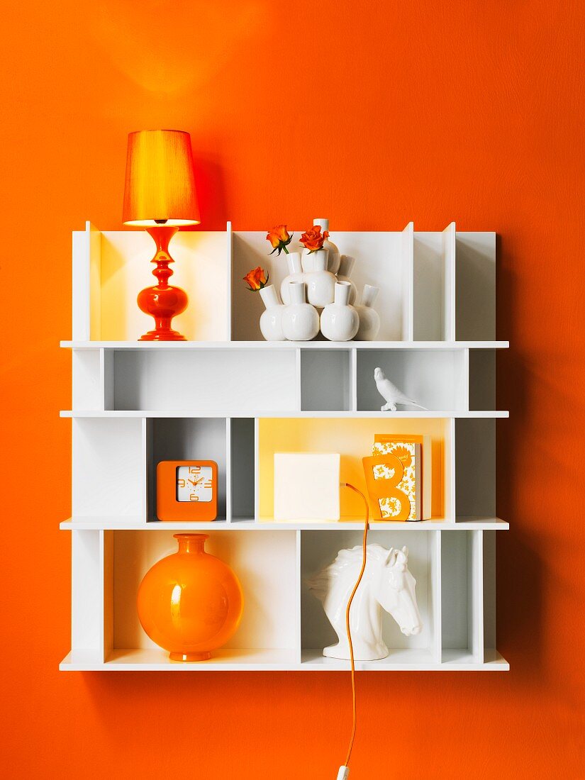
[[[411, 225], [403, 232], [332, 232], [331, 239], [342, 254], [356, 258], [352, 278], [361, 295], [364, 284], [380, 287], [376, 309], [381, 315], [380, 339], [411, 339], [410, 310], [412, 261], [409, 245]], [[302, 230], [294, 233], [289, 251], [303, 250], [298, 239]], [[406, 236], [405, 236], [406, 234]], [[242, 278], [250, 268], [261, 265], [270, 276], [271, 284], [280, 289], [288, 274], [285, 257], [269, 255], [266, 232], [233, 233], [232, 253], [232, 339], [261, 339], [258, 321], [263, 311], [260, 296], [246, 292]]]

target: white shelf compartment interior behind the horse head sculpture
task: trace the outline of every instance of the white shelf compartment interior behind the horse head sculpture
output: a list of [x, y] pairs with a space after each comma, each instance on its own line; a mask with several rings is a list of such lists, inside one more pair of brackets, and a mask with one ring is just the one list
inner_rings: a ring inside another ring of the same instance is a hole
[[[336, 534], [323, 530], [303, 530], [300, 532], [300, 538], [301, 652], [303, 661], [315, 662], [315, 648], [318, 648], [318, 654], [321, 655], [324, 647], [336, 644], [337, 637], [324, 613], [321, 601], [307, 587], [307, 578], [331, 564], [339, 550], [360, 546], [362, 534], [357, 530], [339, 530]], [[375, 665], [395, 662], [426, 665], [440, 661], [438, 534], [434, 531], [421, 534], [408, 530], [371, 530], [368, 534], [368, 544], [381, 544], [385, 548], [402, 548], [406, 544], [409, 548], [408, 566], [417, 580], [417, 605], [423, 622], [420, 634], [404, 636], [395, 620], [384, 612], [382, 636], [390, 654], [386, 659], [375, 661]], [[392, 658], [393, 656], [395, 658]], [[397, 661], [398, 658], [400, 661]], [[330, 660], [335, 662], [335, 659], [324, 659], [325, 662]], [[347, 661], [342, 668], [347, 668]]]

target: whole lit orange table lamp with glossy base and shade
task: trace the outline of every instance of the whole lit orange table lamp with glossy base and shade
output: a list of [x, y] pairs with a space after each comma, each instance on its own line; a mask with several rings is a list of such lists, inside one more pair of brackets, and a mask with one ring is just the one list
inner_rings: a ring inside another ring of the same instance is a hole
[[168, 284], [173, 262], [168, 243], [183, 225], [199, 225], [193, 177], [191, 138], [183, 130], [139, 130], [129, 133], [122, 220], [140, 225], [152, 236], [156, 253], [152, 271], [157, 284], [138, 293], [138, 306], [154, 317], [154, 330], [140, 341], [184, 341], [171, 327], [172, 318], [186, 310], [187, 294]]

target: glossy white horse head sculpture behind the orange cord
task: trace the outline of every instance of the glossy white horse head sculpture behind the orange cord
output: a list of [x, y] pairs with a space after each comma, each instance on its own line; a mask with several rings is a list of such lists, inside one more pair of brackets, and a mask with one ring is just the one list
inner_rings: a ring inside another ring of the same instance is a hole
[[[339, 638], [338, 644], [324, 648], [323, 654], [329, 658], [349, 658], [346, 608], [361, 564], [361, 546], [340, 550], [331, 566], [307, 580]], [[416, 584], [408, 570], [408, 548], [386, 550], [380, 544], [367, 545], [366, 569], [349, 610], [356, 661], [388, 655], [382, 640], [382, 609], [392, 615], [405, 636], [420, 633], [423, 624], [414, 593]]]

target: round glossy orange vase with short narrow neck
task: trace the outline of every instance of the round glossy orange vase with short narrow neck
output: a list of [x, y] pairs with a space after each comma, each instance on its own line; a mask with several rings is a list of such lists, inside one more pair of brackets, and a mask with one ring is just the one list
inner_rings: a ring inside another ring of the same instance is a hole
[[179, 551], [155, 563], [138, 589], [138, 617], [172, 661], [205, 661], [239, 626], [243, 595], [232, 569], [205, 552], [207, 534], [174, 534]]

